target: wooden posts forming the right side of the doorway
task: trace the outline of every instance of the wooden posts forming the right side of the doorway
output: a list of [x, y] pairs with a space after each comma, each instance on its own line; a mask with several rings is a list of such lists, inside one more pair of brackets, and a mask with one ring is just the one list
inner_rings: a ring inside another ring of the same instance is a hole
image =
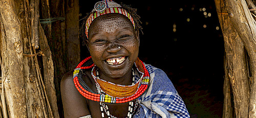
[[[234, 114], [256, 117], [256, 22], [244, 0], [215, 0], [215, 3], [229, 65]], [[223, 114], [223, 117], [227, 116]]]

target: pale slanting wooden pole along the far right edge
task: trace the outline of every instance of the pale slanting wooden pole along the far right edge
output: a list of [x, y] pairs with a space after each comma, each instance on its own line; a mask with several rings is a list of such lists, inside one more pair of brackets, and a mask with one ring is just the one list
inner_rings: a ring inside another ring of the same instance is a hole
[[232, 14], [231, 23], [241, 37], [250, 57], [251, 87], [249, 90], [248, 117], [256, 117], [256, 22], [244, 0], [237, 2], [228, 0], [226, 4], [229, 14]]

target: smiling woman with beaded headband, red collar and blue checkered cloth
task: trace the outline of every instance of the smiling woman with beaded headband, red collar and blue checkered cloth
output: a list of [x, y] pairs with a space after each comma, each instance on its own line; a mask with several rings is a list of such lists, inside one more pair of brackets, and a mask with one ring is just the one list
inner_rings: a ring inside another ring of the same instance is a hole
[[82, 26], [91, 56], [61, 80], [65, 117], [189, 117], [166, 74], [139, 60], [135, 12], [95, 4]]

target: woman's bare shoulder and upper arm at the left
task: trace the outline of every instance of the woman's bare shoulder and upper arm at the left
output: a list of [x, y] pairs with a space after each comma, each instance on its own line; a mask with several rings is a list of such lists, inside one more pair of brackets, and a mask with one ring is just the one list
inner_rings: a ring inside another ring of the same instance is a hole
[[80, 95], [73, 82], [73, 71], [62, 77], [60, 91], [65, 117], [81, 117], [90, 114], [87, 100]]

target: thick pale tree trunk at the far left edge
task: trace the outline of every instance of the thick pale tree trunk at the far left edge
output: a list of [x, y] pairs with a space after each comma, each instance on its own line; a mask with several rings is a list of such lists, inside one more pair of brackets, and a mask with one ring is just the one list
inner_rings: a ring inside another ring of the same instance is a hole
[[23, 42], [14, 1], [1, 0], [3, 78], [11, 117], [28, 117], [25, 93]]

